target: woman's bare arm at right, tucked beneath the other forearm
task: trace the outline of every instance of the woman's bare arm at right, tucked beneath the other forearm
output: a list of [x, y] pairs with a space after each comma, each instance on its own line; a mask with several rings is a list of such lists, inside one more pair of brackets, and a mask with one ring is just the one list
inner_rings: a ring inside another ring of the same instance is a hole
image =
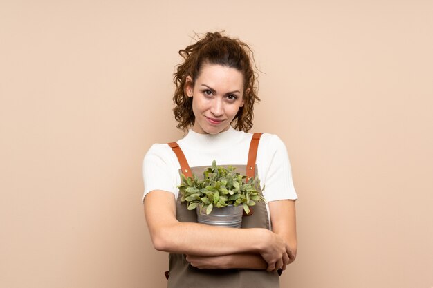
[[[282, 236], [286, 241], [286, 251], [290, 260], [287, 264], [293, 262], [296, 258], [297, 237], [296, 237], [296, 215], [294, 200], [279, 200], [269, 202], [270, 218], [273, 231]], [[192, 266], [200, 269], [267, 269], [268, 263], [261, 258], [260, 254], [237, 253], [225, 256], [187, 256], [187, 261]], [[275, 267], [274, 271], [286, 265]]]

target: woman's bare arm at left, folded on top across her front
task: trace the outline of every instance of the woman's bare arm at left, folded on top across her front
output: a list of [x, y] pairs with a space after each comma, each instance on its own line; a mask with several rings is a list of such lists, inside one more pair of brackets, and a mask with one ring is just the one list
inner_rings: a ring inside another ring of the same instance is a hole
[[257, 253], [268, 269], [289, 260], [284, 238], [267, 229], [232, 229], [178, 222], [175, 199], [166, 191], [151, 191], [145, 198], [145, 215], [154, 247], [160, 251], [196, 256]]

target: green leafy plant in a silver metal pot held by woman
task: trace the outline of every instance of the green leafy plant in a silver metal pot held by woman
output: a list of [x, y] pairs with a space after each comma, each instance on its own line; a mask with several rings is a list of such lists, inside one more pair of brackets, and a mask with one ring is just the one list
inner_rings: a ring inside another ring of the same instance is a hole
[[200, 223], [216, 226], [241, 227], [243, 211], [250, 213], [250, 206], [264, 200], [257, 190], [258, 178], [249, 178], [235, 172], [235, 168], [212, 166], [203, 171], [203, 180], [192, 175], [181, 175], [182, 183], [178, 186], [182, 194], [181, 202], [187, 202], [188, 210], [197, 210]]

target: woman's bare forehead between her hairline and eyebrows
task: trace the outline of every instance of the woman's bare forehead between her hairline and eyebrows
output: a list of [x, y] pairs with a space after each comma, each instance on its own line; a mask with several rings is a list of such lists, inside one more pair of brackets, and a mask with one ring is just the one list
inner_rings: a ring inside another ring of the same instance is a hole
[[236, 68], [219, 64], [204, 64], [196, 85], [205, 84], [215, 90], [241, 90], [243, 88], [243, 75]]

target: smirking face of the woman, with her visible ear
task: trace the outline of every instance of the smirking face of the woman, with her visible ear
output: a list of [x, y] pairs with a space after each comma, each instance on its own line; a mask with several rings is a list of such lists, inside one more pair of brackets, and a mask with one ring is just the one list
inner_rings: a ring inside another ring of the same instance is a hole
[[243, 106], [243, 75], [235, 69], [218, 64], [204, 64], [194, 86], [187, 77], [185, 93], [192, 97], [196, 117], [192, 130], [216, 134], [228, 130]]

